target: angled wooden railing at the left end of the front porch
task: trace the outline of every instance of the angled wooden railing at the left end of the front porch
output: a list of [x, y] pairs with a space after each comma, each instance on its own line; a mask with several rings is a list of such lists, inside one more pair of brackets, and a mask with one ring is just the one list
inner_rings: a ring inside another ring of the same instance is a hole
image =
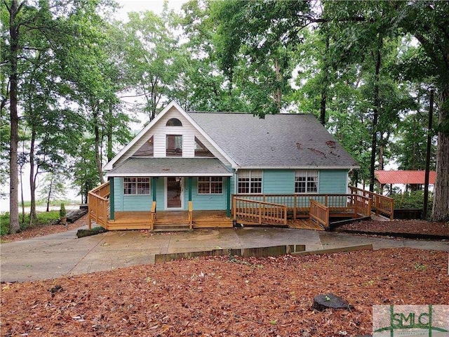
[[92, 220], [98, 225], [107, 228], [107, 215], [109, 214], [109, 195], [111, 186], [104, 183], [88, 193], [88, 223], [92, 229]]

